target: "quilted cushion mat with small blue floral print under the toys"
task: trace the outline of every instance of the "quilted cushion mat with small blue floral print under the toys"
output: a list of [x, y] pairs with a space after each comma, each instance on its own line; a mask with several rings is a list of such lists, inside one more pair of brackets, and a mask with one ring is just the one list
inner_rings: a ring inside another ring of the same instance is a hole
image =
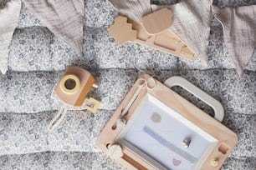
[[[5, 2], [1, 0], [0, 7]], [[214, 3], [233, 7], [256, 1]], [[95, 139], [136, 81], [138, 68], [153, 70], [161, 82], [175, 75], [185, 77], [218, 99], [225, 110], [223, 124], [239, 138], [222, 169], [256, 169], [255, 49], [239, 77], [223, 45], [223, 28], [213, 16], [205, 67], [200, 60], [190, 62], [132, 42], [119, 46], [107, 30], [118, 15], [106, 0], [85, 0], [83, 55], [77, 56], [22, 4], [8, 72], [0, 74], [0, 169], [124, 169], [95, 147]], [[100, 109], [93, 114], [70, 108], [64, 122], [49, 132], [47, 126], [60, 107], [54, 87], [68, 66], [84, 67], [95, 76], [100, 87], [91, 96], [101, 101]], [[174, 90], [212, 114], [197, 98]]]

